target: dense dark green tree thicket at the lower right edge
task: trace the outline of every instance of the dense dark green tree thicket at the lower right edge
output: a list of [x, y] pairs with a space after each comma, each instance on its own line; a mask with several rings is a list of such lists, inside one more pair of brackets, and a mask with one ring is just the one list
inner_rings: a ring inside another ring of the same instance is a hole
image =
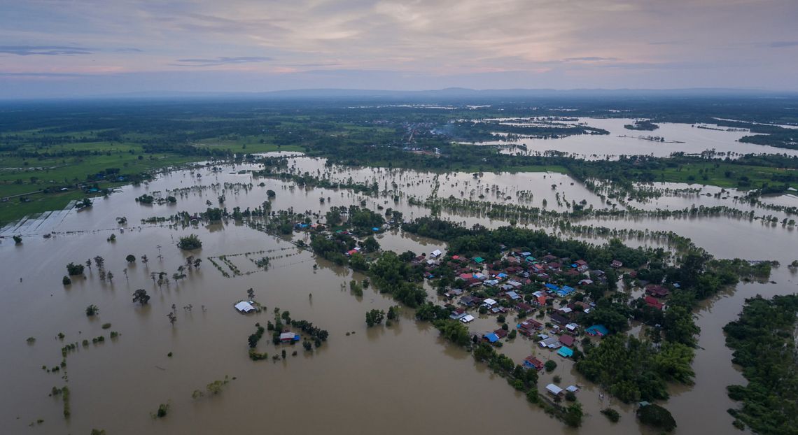
[[729, 410], [735, 426], [754, 433], [793, 434], [798, 428], [796, 374], [798, 296], [757, 296], [745, 300], [740, 318], [728, 323], [726, 345], [732, 362], [743, 368], [748, 385], [728, 387], [729, 398], [741, 402]]

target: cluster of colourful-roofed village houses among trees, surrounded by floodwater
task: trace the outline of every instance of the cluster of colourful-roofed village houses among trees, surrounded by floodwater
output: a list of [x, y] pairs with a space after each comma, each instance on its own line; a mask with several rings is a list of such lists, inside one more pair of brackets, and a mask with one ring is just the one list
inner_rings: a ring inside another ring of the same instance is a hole
[[[311, 239], [338, 241], [343, 255], [350, 260], [375, 253], [373, 248], [366, 249], [369, 244], [358, 241], [355, 234], [368, 234], [372, 239], [391, 228], [389, 223], [359, 231], [327, 229], [319, 223], [294, 225], [296, 231], [310, 232]], [[344, 243], [343, 238], [349, 242]], [[643, 313], [645, 319], [650, 319], [646, 313], [662, 314], [671, 289], [679, 288], [677, 283], [662, 284], [660, 280], [654, 284], [638, 279], [638, 270], [624, 267], [617, 259], [591, 267], [581, 258], [556, 257], [543, 250], [533, 252], [531, 247], [513, 249], [501, 245], [499, 251], [500, 257], [495, 261], [444, 253], [441, 249], [429, 255], [407, 252], [400, 257], [421, 273], [430, 299], [450, 312], [449, 319], [468, 327], [473, 344], [488, 343], [498, 349], [513, 343], [516, 351], [523, 347], [528, 355], [516, 363], [540, 374], [552, 372], [557, 366], [572, 367], [583, 357], [584, 347], [596, 345], [612, 333], [604, 324], [592, 323], [589, 316], [596, 307], [595, 300], [610, 292], [610, 288], [622, 284], [628, 291], [630, 310]], [[486, 328], [493, 322], [499, 327]], [[560, 385], [562, 379], [556, 374], [551, 381], [540, 385], [553, 402], [574, 401], [582, 387]]]

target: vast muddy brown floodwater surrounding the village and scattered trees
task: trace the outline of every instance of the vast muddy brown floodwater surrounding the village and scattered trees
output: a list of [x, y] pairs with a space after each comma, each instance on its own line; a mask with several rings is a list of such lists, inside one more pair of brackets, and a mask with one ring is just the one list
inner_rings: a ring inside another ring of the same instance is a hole
[[[298, 173], [325, 172], [324, 162], [318, 159], [298, 157], [294, 162]], [[259, 206], [267, 199], [266, 190], [271, 189], [277, 193], [272, 210], [293, 207], [295, 211], [317, 213], [322, 219], [330, 206], [359, 204], [361, 200], [372, 210], [390, 207], [400, 210], [406, 219], [419, 217], [429, 210], [409, 206], [408, 198], [424, 199], [433, 192], [439, 197], [474, 199], [479, 192], [484, 194], [484, 201], [501, 202], [508, 201], [507, 196], [518, 198], [519, 190], [528, 190], [533, 195], [529, 201], [532, 206], [539, 206], [546, 198], [550, 209], [566, 210], [557, 205], [558, 193], [569, 201], [584, 198], [596, 208], [606, 206], [584, 186], [572, 185], [571, 178], [562, 174], [483, 174], [474, 178], [472, 174], [409, 170], [330, 169], [335, 179], [351, 176], [362, 182], [376, 180], [381, 190], [385, 185], [392, 190], [392, 182], [397, 182], [401, 200], [393, 202], [390, 194], [368, 197], [349, 190], [306, 189], [272, 178], [229, 173], [247, 168], [251, 167], [227, 166], [215, 174], [206, 169], [163, 174], [148, 185], [124, 186], [108, 198], [97, 198], [89, 210], [55, 212], [6, 229], [5, 235], [22, 233], [25, 237], [22, 245], [14, 245], [9, 239], [0, 243], [4, 277], [0, 292], [5, 299], [0, 305], [0, 319], [6, 331], [0, 337], [4, 349], [0, 377], [7, 391], [0, 399], [4, 433], [89, 433], [92, 428], [113, 434], [646, 432], [634, 419], [631, 406], [610, 402], [608, 397], [602, 402], [600, 388], [575, 373], [569, 360], [547, 355], [548, 351], [539, 350], [528, 339], [519, 336], [501, 351], [516, 362], [527, 355], [558, 362], [553, 373], [541, 374], [539, 389], [543, 390], [554, 375], [563, 379], [563, 386], [581, 386], [577, 396], [589, 414], [583, 429], [569, 429], [527, 404], [504, 379], [440, 339], [434, 327], [414, 321], [412, 310], [405, 308], [401, 320], [390, 327], [367, 329], [364, 313], [372, 308], [387, 310], [393, 302], [373, 288], [366, 289], [362, 297], [354, 296], [348, 283], [364, 277], [358, 273], [317, 260], [287, 241], [233, 221], [187, 229], [140, 223], [143, 218], [168, 216], [180, 210], [202, 211], [206, 201], [215, 206], [223, 189], [228, 210]], [[258, 186], [259, 182], [265, 186]], [[556, 189], [551, 189], [552, 183]], [[486, 188], [488, 192], [484, 193]], [[134, 201], [144, 193], [165, 194], [176, 189], [184, 189], [184, 194], [176, 194], [178, 202], [173, 206], [145, 206]], [[326, 198], [323, 204], [319, 201], [322, 197]], [[693, 195], [658, 201], [662, 208], [681, 208], [685, 201], [696, 205], [707, 201], [709, 205], [720, 200]], [[442, 215], [469, 225], [506, 224], [463, 214]], [[127, 217], [128, 224], [120, 229], [116, 219], [122, 216]], [[760, 221], [700, 217], [590, 223], [621, 229], [674, 230], [718, 257], [777, 259], [782, 264], [798, 257], [795, 230]], [[52, 233], [52, 237], [42, 237], [45, 233]], [[203, 241], [203, 248], [191, 253], [203, 258], [201, 267], [186, 272], [187, 277], [180, 282], [159, 287], [151, 273], [172, 276], [178, 266], [184, 265], [189, 254], [177, 249], [175, 243], [188, 233], [198, 234]], [[116, 234], [116, 241], [107, 241], [111, 234]], [[306, 235], [290, 238], [306, 240]], [[383, 249], [397, 252], [445, 250], [440, 241], [398, 229], [377, 235], [377, 241]], [[128, 254], [138, 258], [146, 255], [149, 262], [145, 265], [138, 260], [128, 265], [124, 260]], [[216, 259], [232, 276], [224, 277], [208, 260], [220, 255], [226, 255], [242, 275], [233, 275]], [[61, 284], [67, 263], [82, 263], [96, 256], [105, 258], [105, 269], [113, 272], [113, 282], [101, 282], [93, 266], [86, 270], [85, 280], [75, 279], [68, 287]], [[271, 258], [266, 271], [254, 264], [263, 256]], [[736, 292], [718, 296], [697, 312], [702, 330], [702, 349], [693, 364], [697, 383], [692, 387], [674, 386], [674, 397], [666, 405], [680, 425], [678, 433], [730, 431], [731, 417], [725, 410], [733, 403], [726, 398], [725, 386], [742, 382], [742, 378], [730, 362], [721, 327], [737, 315], [745, 297], [756, 292], [770, 296], [796, 290], [796, 277], [786, 267], [776, 269], [773, 280], [778, 284], [741, 284]], [[152, 296], [147, 306], [132, 303], [132, 292], [137, 288], [146, 289]], [[253, 288], [255, 300], [267, 307], [264, 312], [235, 312], [232, 305], [246, 299], [248, 288]], [[96, 318], [86, 317], [89, 304], [100, 308]], [[174, 325], [167, 319], [172, 304], [176, 307]], [[190, 311], [184, 308], [189, 304]], [[294, 319], [307, 319], [330, 331], [330, 339], [306, 354], [299, 345], [275, 347], [264, 336], [259, 351], [271, 356], [285, 348], [287, 358], [251, 361], [247, 357], [247, 336], [255, 331], [256, 322], [265, 324], [273, 319], [275, 307], [289, 311]], [[103, 330], [103, 323], [111, 323], [111, 327]], [[468, 326], [479, 333], [496, 329], [498, 323], [492, 317], [483, 317]], [[109, 339], [109, 331], [118, 331], [120, 336]], [[57, 338], [59, 332], [65, 335], [63, 340]], [[41, 369], [61, 362], [60, 349], [65, 344], [90, 341], [97, 335], [105, 335], [105, 343], [88, 347], [79, 344], [77, 351], [67, 356], [64, 371], [48, 373]], [[26, 343], [28, 337], [36, 338], [36, 342]], [[291, 356], [294, 350], [297, 356]], [[172, 357], [168, 356], [170, 352]], [[235, 380], [220, 394], [192, 398], [192, 391], [203, 390], [226, 375]], [[53, 386], [64, 385], [71, 390], [69, 420], [61, 414], [61, 398], [48, 396]], [[153, 419], [150, 413], [160, 403], [170, 404], [169, 414]], [[694, 412], [697, 403], [704, 410], [700, 415]], [[599, 414], [607, 404], [622, 411], [617, 424]], [[467, 414], [474, 415], [465, 418]], [[44, 421], [36, 424], [38, 419]], [[31, 422], [34, 427], [29, 428]]]

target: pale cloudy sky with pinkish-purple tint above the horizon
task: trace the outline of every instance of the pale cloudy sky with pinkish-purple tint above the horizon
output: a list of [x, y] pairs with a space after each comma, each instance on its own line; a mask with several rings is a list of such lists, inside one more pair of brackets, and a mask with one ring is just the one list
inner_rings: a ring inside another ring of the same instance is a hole
[[0, 0], [0, 98], [798, 90], [798, 0]]

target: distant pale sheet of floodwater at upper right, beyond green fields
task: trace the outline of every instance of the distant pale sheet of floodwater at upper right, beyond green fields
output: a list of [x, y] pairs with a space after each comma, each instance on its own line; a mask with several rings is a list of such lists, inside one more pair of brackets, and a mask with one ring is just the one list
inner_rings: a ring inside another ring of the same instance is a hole
[[[726, 131], [716, 124], [657, 123], [654, 131], [627, 130], [623, 126], [634, 120], [623, 118], [579, 118], [573, 123], [586, 123], [602, 128], [609, 135], [571, 135], [561, 139], [519, 139], [517, 141], [488, 141], [485, 145], [500, 145], [502, 152], [515, 155], [534, 155], [546, 151], [561, 151], [582, 159], [605, 159], [618, 155], [652, 155], [667, 157], [674, 152], [700, 154], [714, 150], [718, 153], [786, 154], [798, 155], [798, 150], [737, 142], [749, 131]], [[701, 127], [699, 127], [699, 125]], [[626, 137], [621, 137], [626, 136]], [[659, 136], [665, 142], [638, 139], [640, 136]], [[518, 145], [526, 147], [524, 150]]]

